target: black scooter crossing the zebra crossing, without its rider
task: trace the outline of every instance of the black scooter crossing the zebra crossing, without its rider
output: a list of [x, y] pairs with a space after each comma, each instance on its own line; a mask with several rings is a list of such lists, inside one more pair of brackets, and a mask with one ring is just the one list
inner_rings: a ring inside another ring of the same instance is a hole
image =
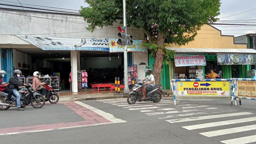
[[146, 98], [141, 100], [143, 96], [141, 95], [140, 91], [142, 90], [142, 84], [144, 84], [144, 82], [142, 80], [139, 80], [137, 83], [138, 84], [134, 84], [132, 92], [130, 92], [127, 97], [127, 102], [130, 105], [134, 104], [137, 100], [139, 102], [153, 101], [157, 103], [162, 99], [162, 90], [160, 90], [162, 88], [162, 85], [155, 85], [152, 90], [146, 91]]

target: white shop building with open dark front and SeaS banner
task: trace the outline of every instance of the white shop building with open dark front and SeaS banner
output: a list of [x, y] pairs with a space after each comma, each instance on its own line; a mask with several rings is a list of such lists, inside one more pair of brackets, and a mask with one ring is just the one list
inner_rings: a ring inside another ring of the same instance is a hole
[[[13, 69], [21, 69], [26, 77], [40, 71], [49, 76], [60, 74], [59, 84], [63, 80], [69, 89], [71, 72], [71, 89], [77, 92], [78, 70], [88, 73], [88, 87], [89, 83], [114, 83], [115, 77], [124, 77], [123, 52], [110, 53], [108, 46], [108, 39], [117, 37], [118, 24], [91, 33], [79, 15], [4, 8], [0, 21], [1, 69], [8, 73], [4, 81], [12, 76]], [[135, 40], [145, 39], [140, 29], [128, 28], [127, 33]], [[147, 58], [147, 50], [128, 52], [128, 65], [137, 66], [137, 78], [148, 66]]]

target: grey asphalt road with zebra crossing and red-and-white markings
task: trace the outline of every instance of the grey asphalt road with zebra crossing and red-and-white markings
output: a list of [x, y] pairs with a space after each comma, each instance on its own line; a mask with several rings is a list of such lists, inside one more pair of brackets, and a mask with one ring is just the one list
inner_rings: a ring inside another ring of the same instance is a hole
[[256, 143], [256, 101], [126, 99], [46, 104], [0, 111], [1, 143]]

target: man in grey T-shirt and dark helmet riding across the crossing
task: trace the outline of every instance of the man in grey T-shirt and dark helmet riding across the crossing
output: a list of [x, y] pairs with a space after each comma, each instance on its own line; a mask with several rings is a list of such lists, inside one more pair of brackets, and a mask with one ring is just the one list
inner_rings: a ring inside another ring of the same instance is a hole
[[[148, 83], [144, 83], [142, 84], [142, 87], [143, 87], [143, 92], [144, 92], [144, 95], [143, 97], [141, 98], [141, 100], [144, 100], [146, 99], [146, 91], [148, 90], [152, 90], [155, 86], [155, 78], [154, 76], [151, 74], [152, 73], [152, 69], [151, 68], [146, 68], [145, 69], [145, 72], [147, 72], [147, 77], [142, 79], [142, 81], [148, 81]], [[142, 92], [142, 91], [141, 91]]]

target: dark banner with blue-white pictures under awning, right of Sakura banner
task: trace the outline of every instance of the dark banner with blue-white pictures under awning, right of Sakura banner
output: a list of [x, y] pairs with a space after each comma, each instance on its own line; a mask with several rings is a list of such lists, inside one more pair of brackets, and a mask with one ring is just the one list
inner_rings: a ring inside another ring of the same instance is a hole
[[256, 65], [256, 54], [217, 53], [218, 65]]

